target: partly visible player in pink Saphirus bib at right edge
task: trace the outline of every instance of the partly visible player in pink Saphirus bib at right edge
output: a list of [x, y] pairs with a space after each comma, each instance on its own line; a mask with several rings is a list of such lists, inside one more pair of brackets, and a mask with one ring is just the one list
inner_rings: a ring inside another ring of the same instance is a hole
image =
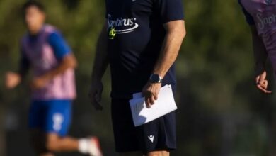
[[251, 26], [256, 87], [265, 94], [271, 94], [265, 63], [269, 58], [276, 74], [276, 1], [238, 0], [238, 3]]

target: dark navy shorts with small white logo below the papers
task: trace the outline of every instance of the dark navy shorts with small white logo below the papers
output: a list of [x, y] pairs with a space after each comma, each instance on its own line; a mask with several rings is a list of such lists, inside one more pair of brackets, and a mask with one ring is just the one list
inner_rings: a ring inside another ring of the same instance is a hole
[[128, 99], [112, 99], [116, 152], [144, 153], [176, 149], [176, 113], [134, 127]]

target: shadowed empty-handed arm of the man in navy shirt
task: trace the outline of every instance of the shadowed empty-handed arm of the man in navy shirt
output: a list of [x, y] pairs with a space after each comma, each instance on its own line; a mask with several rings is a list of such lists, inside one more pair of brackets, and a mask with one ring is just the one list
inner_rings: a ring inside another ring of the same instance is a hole
[[93, 104], [93, 106], [95, 106], [95, 108], [98, 110], [103, 109], [103, 107], [100, 105], [100, 100], [103, 92], [103, 83], [101, 82], [101, 80], [109, 65], [107, 41], [107, 25], [105, 24], [98, 38], [96, 57], [94, 59], [93, 71], [91, 74], [91, 88], [88, 94], [91, 100], [91, 104]]

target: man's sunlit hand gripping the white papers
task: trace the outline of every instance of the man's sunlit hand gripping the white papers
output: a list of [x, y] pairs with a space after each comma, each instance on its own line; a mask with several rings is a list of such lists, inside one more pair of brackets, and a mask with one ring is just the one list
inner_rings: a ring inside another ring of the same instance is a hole
[[142, 94], [144, 95], [146, 101], [146, 108], [151, 108], [151, 105], [154, 105], [154, 101], [158, 99], [158, 94], [161, 89], [161, 83], [150, 83], [148, 82]]

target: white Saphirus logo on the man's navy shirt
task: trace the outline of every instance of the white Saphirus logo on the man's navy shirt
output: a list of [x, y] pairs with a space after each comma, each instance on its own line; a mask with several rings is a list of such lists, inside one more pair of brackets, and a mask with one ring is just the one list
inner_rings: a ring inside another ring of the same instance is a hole
[[117, 18], [112, 19], [112, 16], [108, 14], [108, 29], [110, 30], [111, 39], [116, 34], [131, 33], [139, 27], [136, 23], [136, 18]]

